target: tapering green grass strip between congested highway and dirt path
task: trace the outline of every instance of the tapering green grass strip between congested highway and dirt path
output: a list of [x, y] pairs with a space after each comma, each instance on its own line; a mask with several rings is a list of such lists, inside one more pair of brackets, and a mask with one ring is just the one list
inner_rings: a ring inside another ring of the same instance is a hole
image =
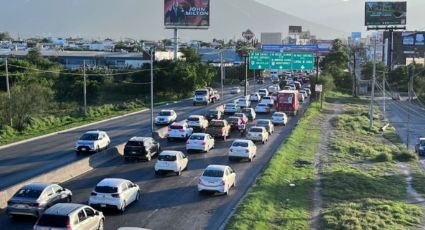
[[314, 166], [293, 163], [313, 162], [320, 141], [319, 118], [318, 106], [313, 104], [248, 192], [227, 229], [309, 228]]

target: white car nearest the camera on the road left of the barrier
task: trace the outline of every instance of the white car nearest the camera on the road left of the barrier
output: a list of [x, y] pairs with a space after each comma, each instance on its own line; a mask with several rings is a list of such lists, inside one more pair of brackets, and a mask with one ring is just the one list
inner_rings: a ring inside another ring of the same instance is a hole
[[105, 131], [88, 131], [78, 139], [74, 149], [77, 154], [94, 153], [107, 149], [109, 144], [111, 144], [111, 139]]

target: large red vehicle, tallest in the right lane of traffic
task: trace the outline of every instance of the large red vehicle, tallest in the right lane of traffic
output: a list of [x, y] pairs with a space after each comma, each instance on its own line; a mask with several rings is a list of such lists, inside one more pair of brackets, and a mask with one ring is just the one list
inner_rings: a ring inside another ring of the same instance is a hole
[[281, 90], [277, 92], [275, 102], [276, 111], [284, 112], [292, 116], [297, 115], [299, 102], [297, 90]]

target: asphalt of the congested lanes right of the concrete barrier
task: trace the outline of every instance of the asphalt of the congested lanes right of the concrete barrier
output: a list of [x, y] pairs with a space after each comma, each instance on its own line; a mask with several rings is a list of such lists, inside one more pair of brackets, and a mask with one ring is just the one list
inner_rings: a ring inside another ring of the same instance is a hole
[[[271, 114], [259, 115], [257, 119], [270, 117]], [[290, 117], [287, 126], [276, 127], [268, 143], [258, 144], [257, 157], [252, 163], [228, 161], [228, 148], [232, 141], [239, 137], [238, 132], [233, 132], [231, 139], [226, 142], [216, 141], [215, 149], [209, 153], [189, 154], [189, 169], [180, 177], [155, 176], [155, 161], [125, 162], [123, 159], [116, 159], [64, 183], [63, 186], [72, 190], [73, 202], [77, 203], [86, 203], [91, 190], [105, 177], [129, 179], [140, 186], [141, 200], [130, 205], [125, 213], [104, 212], [105, 229], [115, 230], [122, 226], [149, 229], [219, 229], [277, 148], [288, 137], [298, 118], [299, 116]], [[185, 152], [184, 144], [161, 140], [163, 150]], [[197, 179], [209, 164], [228, 164], [236, 171], [236, 187], [228, 196], [198, 194]], [[34, 218], [10, 219], [4, 212], [0, 214], [0, 224], [5, 229], [31, 229], [34, 222]]]

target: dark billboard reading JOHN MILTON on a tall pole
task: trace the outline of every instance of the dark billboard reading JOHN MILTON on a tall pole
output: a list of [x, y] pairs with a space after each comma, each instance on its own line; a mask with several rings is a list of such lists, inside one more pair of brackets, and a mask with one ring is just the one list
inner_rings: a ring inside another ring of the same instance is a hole
[[164, 0], [166, 28], [207, 29], [210, 25], [210, 0]]

